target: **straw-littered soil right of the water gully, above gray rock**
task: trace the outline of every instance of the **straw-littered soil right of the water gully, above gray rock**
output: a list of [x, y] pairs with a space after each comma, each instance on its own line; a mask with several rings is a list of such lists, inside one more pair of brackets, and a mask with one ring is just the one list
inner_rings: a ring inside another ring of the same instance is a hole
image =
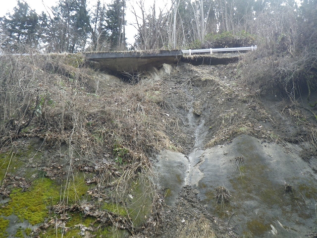
[[[205, 144], [205, 148], [228, 143], [241, 134], [281, 144], [284, 144], [285, 141], [309, 141], [316, 144], [316, 126], [308, 122], [309, 120], [301, 112], [296, 102], [281, 113], [289, 116], [288, 119], [294, 124], [304, 125], [309, 132], [307, 135], [305, 134], [305, 137], [289, 136], [283, 131], [262, 126], [262, 122], [268, 122], [267, 124], [273, 126], [278, 124], [278, 121], [264, 106], [257, 93], [250, 90], [249, 85], [245, 85], [245, 78], [239, 78], [239, 69], [236, 69], [236, 66], [236, 64], [198, 67], [188, 65], [188, 69], [197, 75], [197, 79], [203, 82], [208, 80], [209, 84], [213, 84], [212, 89], [209, 89], [209, 97], [214, 101], [212, 114], [217, 117], [210, 122], [213, 137]], [[206, 75], [212, 75], [212, 77]], [[195, 83], [197, 84], [197, 82]], [[301, 119], [302, 121], [300, 121]]]

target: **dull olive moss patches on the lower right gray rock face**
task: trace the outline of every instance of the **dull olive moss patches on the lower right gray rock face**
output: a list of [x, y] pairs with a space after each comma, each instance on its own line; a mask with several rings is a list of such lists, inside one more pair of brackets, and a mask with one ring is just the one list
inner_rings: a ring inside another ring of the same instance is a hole
[[[271, 138], [275, 138], [272, 136]], [[276, 138], [275, 138], [276, 139]], [[238, 153], [243, 154], [244, 164], [234, 171], [234, 176], [230, 179], [232, 186], [232, 204], [242, 214], [248, 215], [243, 234], [245, 237], [263, 237], [263, 234], [270, 230], [269, 224], [275, 217], [267, 213], [265, 216], [255, 217], [248, 214], [247, 211], [241, 210], [245, 201], [259, 202], [263, 209], [274, 209], [280, 211], [285, 220], [294, 222], [294, 216], [299, 217], [300, 222], [315, 216], [315, 209], [307, 209], [306, 202], [308, 199], [313, 202], [317, 194], [316, 181], [314, 179], [304, 178], [287, 178], [286, 181], [297, 181], [293, 185], [292, 192], [286, 192], [284, 184], [277, 182], [269, 177], [269, 166], [266, 165], [266, 159], [260, 157], [258, 153], [244, 153], [244, 151], [256, 151], [252, 143], [241, 143], [237, 149]], [[299, 182], [301, 181], [301, 182]], [[307, 203], [308, 204], [308, 203]], [[217, 211], [216, 207], [212, 208], [216, 215], [221, 215], [221, 209]], [[229, 210], [229, 209], [225, 209]], [[222, 214], [223, 211], [222, 211]], [[276, 214], [279, 214], [277, 212]], [[258, 215], [259, 216], [259, 215]], [[298, 221], [296, 220], [296, 223]], [[301, 224], [298, 224], [301, 225]]]

